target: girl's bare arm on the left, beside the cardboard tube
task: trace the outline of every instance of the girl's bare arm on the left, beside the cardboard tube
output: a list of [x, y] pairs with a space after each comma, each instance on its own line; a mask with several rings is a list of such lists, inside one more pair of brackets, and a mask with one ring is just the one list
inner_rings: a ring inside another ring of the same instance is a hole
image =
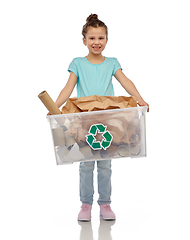
[[73, 72], [71, 72], [67, 84], [65, 85], [63, 90], [60, 92], [55, 102], [58, 108], [60, 108], [70, 97], [76, 83], [77, 83], [77, 76]]

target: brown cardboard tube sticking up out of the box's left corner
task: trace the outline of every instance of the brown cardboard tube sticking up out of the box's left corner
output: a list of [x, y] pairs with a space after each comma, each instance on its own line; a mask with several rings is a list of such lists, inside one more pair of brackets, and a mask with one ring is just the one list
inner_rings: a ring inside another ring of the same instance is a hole
[[52, 115], [61, 114], [61, 111], [46, 91], [41, 92], [38, 97]]

